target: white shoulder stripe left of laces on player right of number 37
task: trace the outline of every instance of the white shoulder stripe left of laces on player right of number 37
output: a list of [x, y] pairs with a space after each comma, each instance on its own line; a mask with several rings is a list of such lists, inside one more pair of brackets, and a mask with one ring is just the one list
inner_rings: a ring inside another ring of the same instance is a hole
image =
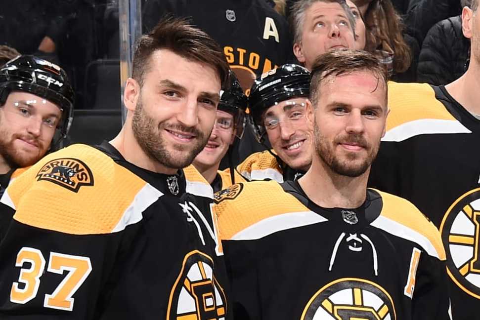
[[231, 240], [257, 240], [275, 232], [328, 221], [313, 211], [290, 212], [259, 221], [234, 235]]

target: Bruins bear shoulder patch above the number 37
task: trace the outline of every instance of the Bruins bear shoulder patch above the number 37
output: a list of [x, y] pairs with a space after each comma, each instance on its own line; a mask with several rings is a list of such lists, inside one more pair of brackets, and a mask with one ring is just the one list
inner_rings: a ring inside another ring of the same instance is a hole
[[37, 181], [50, 181], [70, 191], [78, 192], [82, 186], [93, 186], [93, 174], [78, 159], [61, 158], [48, 161], [39, 173]]

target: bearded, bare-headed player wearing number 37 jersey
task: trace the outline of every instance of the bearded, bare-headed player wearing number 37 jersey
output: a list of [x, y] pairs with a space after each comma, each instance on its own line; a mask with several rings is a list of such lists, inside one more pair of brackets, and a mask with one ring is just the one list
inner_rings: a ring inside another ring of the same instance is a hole
[[218, 44], [183, 20], [139, 39], [118, 136], [46, 156], [3, 194], [2, 320], [228, 318], [213, 194], [182, 169], [227, 78]]

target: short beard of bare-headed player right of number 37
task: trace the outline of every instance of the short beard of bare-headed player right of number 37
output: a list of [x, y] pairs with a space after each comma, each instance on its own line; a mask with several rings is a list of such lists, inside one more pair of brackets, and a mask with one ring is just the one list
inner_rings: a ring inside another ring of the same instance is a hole
[[[375, 160], [375, 157], [377, 157], [380, 142], [376, 146], [373, 146], [369, 144], [362, 135], [346, 134], [335, 137], [335, 139], [330, 143], [326, 137], [321, 134], [316, 122], [313, 130], [315, 136], [315, 152], [318, 154], [318, 157], [320, 157], [320, 159], [326, 163], [336, 174], [352, 178], [361, 176], [370, 167], [373, 160]], [[354, 142], [359, 144], [367, 151], [367, 157], [365, 157], [362, 161], [359, 161], [361, 156], [352, 152], [347, 153], [344, 159], [340, 159], [335, 154], [335, 150], [338, 144], [342, 142]]]

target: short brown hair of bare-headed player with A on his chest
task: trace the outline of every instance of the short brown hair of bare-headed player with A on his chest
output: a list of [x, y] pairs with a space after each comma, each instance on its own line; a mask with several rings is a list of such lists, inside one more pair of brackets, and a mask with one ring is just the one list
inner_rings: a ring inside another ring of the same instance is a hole
[[387, 95], [388, 70], [373, 54], [363, 50], [335, 50], [318, 56], [313, 63], [310, 78], [310, 101], [317, 106], [320, 84], [329, 76], [348, 75], [356, 71], [371, 72], [385, 85]]

